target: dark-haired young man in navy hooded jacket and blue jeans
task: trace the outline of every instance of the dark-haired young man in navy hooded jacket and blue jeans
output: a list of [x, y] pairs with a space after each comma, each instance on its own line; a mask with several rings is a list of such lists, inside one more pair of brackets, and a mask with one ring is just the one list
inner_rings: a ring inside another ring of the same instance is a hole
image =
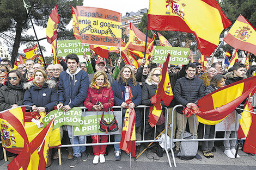
[[[76, 54], [66, 56], [66, 64], [68, 69], [59, 74], [59, 104], [57, 109], [68, 111], [76, 106], [83, 106], [83, 102], [87, 97], [89, 88], [88, 74], [78, 67], [79, 58]], [[72, 140], [72, 127], [67, 125], [70, 142]], [[74, 144], [86, 143], [86, 136], [74, 136]], [[87, 161], [86, 147], [73, 147], [74, 160], [69, 167], [73, 168], [81, 160]]]

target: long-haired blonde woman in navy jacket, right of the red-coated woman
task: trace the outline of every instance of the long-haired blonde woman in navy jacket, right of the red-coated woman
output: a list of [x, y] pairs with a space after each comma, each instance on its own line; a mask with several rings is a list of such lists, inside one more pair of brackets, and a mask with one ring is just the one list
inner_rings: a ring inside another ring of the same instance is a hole
[[[114, 93], [115, 105], [121, 106], [123, 109], [123, 118], [125, 116], [126, 108], [135, 108], [141, 104], [141, 86], [136, 81], [135, 75], [133, 74], [133, 68], [131, 66], [124, 66], [119, 72], [118, 78], [112, 84]], [[125, 102], [129, 99], [130, 91], [132, 93], [132, 103], [127, 105]], [[136, 112], [136, 140], [141, 140], [141, 112], [138, 108]], [[115, 135], [115, 142], [120, 142], [121, 135]], [[136, 153], [139, 153], [139, 145], [136, 143]], [[114, 144], [115, 149], [115, 160], [121, 159], [120, 144]]]

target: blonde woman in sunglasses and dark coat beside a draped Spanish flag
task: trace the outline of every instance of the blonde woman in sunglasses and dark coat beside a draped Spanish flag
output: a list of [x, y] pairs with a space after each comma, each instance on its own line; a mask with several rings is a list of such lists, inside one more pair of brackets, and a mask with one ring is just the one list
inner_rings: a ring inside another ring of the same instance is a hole
[[[142, 105], [153, 106], [151, 104], [151, 97], [156, 93], [157, 86], [160, 81], [161, 68], [153, 68], [150, 71], [148, 78], [145, 80], [145, 85], [142, 89]], [[154, 130], [149, 124], [149, 108], [146, 109], [145, 115], [145, 140], [154, 140]], [[164, 129], [164, 123], [156, 125], [156, 136]], [[156, 154], [156, 147], [147, 149], [146, 156], [148, 159], [159, 160], [159, 156]]]

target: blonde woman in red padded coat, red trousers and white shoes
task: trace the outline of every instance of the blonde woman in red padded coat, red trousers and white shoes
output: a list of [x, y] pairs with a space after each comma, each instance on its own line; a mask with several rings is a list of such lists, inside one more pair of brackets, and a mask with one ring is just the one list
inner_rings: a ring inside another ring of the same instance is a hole
[[[98, 102], [98, 104], [97, 104]], [[94, 76], [92, 83], [90, 84], [88, 95], [84, 101], [84, 106], [89, 111], [104, 111], [114, 105], [114, 95], [112, 88], [108, 82], [107, 75], [103, 71], [97, 71]], [[93, 143], [97, 142], [97, 136], [92, 136]], [[108, 135], [101, 135], [98, 137], [98, 141], [101, 143], [107, 142]], [[107, 145], [93, 146], [94, 159], [93, 163], [97, 164], [104, 163]]]

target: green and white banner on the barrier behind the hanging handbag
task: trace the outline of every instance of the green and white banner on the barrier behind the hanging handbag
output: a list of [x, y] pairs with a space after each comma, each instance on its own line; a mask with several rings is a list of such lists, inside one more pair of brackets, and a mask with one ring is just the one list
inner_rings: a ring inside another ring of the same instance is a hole
[[[97, 135], [97, 123], [100, 124], [100, 119], [102, 116], [102, 111], [87, 111], [86, 116], [81, 117], [80, 126], [73, 128], [74, 135]], [[98, 115], [97, 115], [98, 114]], [[111, 133], [114, 134], [121, 134], [121, 126], [122, 126], [122, 120], [121, 120], [121, 111], [114, 111], [115, 119], [117, 119], [118, 123], [118, 130]], [[111, 122], [114, 118], [113, 114], [107, 114], [105, 112], [103, 118], [108, 123]], [[99, 127], [100, 128], [100, 127]], [[106, 135], [105, 132], [101, 132], [99, 130], [99, 135]]]

